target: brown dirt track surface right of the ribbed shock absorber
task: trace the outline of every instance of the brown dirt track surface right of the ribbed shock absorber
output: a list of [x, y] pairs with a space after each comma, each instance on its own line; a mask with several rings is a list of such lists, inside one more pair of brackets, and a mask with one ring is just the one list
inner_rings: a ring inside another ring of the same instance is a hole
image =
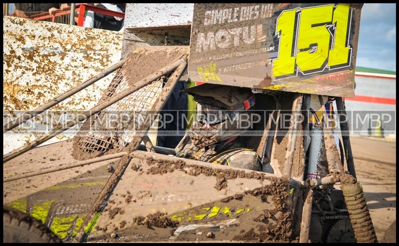
[[391, 240], [396, 237], [387, 237], [390, 242], [384, 242], [384, 234], [396, 221], [396, 142], [351, 137], [351, 145], [377, 239], [379, 243], [394, 243]]

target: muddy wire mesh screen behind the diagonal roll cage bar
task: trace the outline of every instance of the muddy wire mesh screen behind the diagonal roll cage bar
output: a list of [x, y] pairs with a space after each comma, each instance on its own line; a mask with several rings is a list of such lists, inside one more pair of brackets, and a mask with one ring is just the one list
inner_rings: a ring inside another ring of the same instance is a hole
[[[168, 78], [169, 75], [153, 81], [87, 119], [74, 140], [75, 159], [93, 158], [100, 153], [121, 151], [147, 118], [147, 112], [159, 97]], [[118, 70], [98, 104], [128, 88], [129, 85]]]

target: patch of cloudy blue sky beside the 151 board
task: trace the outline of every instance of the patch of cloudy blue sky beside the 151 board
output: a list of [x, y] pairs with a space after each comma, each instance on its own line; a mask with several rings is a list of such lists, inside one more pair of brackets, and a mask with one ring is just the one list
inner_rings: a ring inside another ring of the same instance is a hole
[[356, 66], [396, 71], [396, 3], [365, 3]]

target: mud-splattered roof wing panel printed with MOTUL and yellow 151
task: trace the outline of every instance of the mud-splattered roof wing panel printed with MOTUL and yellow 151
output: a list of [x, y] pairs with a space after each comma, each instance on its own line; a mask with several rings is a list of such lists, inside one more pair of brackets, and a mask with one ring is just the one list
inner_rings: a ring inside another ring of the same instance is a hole
[[189, 75], [202, 83], [354, 96], [358, 3], [196, 3]]

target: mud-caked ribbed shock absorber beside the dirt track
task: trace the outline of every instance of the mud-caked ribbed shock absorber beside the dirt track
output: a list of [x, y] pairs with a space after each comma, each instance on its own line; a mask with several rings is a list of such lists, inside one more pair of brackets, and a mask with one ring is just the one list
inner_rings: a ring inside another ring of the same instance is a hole
[[340, 175], [340, 182], [357, 242], [378, 243], [362, 186], [350, 174]]

